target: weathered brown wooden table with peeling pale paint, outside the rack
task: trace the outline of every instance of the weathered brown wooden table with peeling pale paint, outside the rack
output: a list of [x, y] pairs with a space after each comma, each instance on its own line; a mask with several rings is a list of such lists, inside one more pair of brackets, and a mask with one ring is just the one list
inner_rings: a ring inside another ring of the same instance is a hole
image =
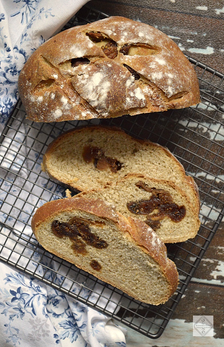
[[[183, 53], [224, 73], [224, 1], [92, 0], [89, 5], [109, 15], [140, 20], [160, 29], [178, 44]], [[163, 335], [152, 340], [128, 328], [127, 346], [224, 346], [223, 231], [224, 222], [217, 230]], [[214, 316], [214, 337], [192, 336], [193, 315]]]

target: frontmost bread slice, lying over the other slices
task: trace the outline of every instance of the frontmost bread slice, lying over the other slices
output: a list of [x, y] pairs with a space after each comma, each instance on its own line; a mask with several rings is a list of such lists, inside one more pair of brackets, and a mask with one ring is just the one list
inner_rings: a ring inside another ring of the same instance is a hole
[[[81, 234], [73, 238], [59, 237], [52, 231], [54, 221], [72, 224], [71, 220], [77, 219], [82, 220], [81, 227], [89, 228], [89, 237], [88, 231], [82, 234], [83, 229], [77, 229]], [[166, 247], [155, 232], [140, 220], [126, 219], [99, 199], [48, 202], [37, 209], [31, 226], [47, 251], [137, 300], [159, 305], [177, 288], [176, 265], [167, 258]]]

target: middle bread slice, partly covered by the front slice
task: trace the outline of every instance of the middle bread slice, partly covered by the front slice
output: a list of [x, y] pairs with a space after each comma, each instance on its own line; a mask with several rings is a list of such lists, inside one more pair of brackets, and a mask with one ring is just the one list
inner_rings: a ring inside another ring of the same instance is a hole
[[198, 213], [189, 198], [171, 181], [128, 174], [104, 188], [83, 192], [75, 197], [79, 196], [100, 198], [113, 205], [124, 217], [146, 222], [165, 243], [192, 238], [200, 226]]

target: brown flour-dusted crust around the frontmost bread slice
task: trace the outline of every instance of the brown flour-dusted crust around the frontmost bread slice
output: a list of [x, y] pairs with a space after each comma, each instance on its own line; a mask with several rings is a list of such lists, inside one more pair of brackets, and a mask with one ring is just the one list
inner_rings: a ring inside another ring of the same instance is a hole
[[[38, 227], [44, 221], [48, 219], [53, 220], [54, 218], [56, 218], [58, 213], [72, 211], [74, 209], [93, 214], [94, 216], [102, 218], [103, 220], [109, 220], [115, 223], [116, 227], [122, 233], [128, 233], [128, 235], [130, 235], [129, 237], [131, 237], [131, 243], [138, 245], [144, 253], [149, 254], [158, 263], [162, 273], [169, 283], [169, 295], [165, 296], [162, 302], [153, 304], [159, 305], [160, 303], [168, 300], [168, 298], [174, 293], [177, 288], [178, 272], [176, 265], [167, 258], [167, 249], [163, 242], [157, 237], [157, 235], [151, 228], [145, 225], [145, 223], [134, 220], [133, 218], [126, 219], [121, 214], [111, 209], [111, 206], [106, 204], [104, 201], [101, 201], [100, 199], [95, 200], [82, 197], [64, 198], [45, 203], [43, 206], [37, 209], [31, 222], [31, 227], [37, 240], [39, 238]], [[47, 251], [50, 251], [55, 255], [62, 257], [63, 259], [70, 261], [76, 266], [80, 267], [70, 258], [62, 256], [62, 254], [57, 252], [56, 249], [52, 250], [47, 248], [46, 245], [42, 245], [45, 249], [47, 249]], [[85, 268], [85, 266], [82, 266], [82, 270], [90, 272], [89, 269]], [[105, 281], [105, 279], [100, 276], [99, 272], [92, 271], [90, 273], [92, 273], [100, 280]], [[116, 283], [116, 280], [114, 280], [113, 278], [111, 278], [111, 281], [109, 281], [108, 283], [112, 286], [119, 287]], [[125, 293], [133, 296], [133, 293], [131, 293], [130, 291], [125, 291]], [[141, 299], [137, 297], [135, 298], [141, 301]]]

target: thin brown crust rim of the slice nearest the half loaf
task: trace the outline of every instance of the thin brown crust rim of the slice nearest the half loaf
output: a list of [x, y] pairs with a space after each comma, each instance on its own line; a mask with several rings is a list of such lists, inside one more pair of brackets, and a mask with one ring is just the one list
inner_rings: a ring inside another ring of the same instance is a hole
[[[182, 164], [177, 160], [177, 158], [169, 151], [168, 148], [163, 147], [161, 145], [159, 145], [158, 143], [153, 143], [147, 139], [142, 140], [142, 139], [137, 139], [134, 138], [130, 135], [127, 135], [124, 130], [118, 128], [118, 127], [109, 127], [109, 126], [82, 126], [82, 127], [78, 127], [75, 129], [70, 129], [68, 131], [66, 131], [65, 133], [63, 133], [62, 135], [58, 136], [56, 139], [54, 139], [47, 147], [47, 150], [43, 156], [43, 165], [42, 165], [42, 170], [45, 171], [47, 173], [47, 175], [52, 178], [53, 180], [57, 181], [58, 183], [62, 183], [65, 184], [66, 187], [75, 189], [75, 191], [88, 191], [90, 189], [93, 189], [93, 187], [89, 187], [88, 184], [86, 187], [80, 186], [78, 181], [77, 182], [72, 182], [69, 185], [65, 183], [65, 181], [58, 179], [58, 177], [56, 177], [56, 175], [53, 174], [52, 170], [50, 167], [48, 167], [48, 160], [51, 158], [52, 153], [55, 151], [55, 149], [57, 147], [59, 147], [60, 145], [63, 145], [64, 143], [64, 139], [69, 136], [70, 134], [74, 136], [83, 132], [83, 137], [86, 136], [85, 132], [88, 135], [89, 130], [98, 130], [99, 132], [104, 131], [105, 132], [105, 139], [107, 138], [107, 134], [109, 137], [109, 134], [111, 133], [120, 133], [122, 134], [122, 138], [123, 138], [123, 142], [125, 143], [126, 141], [136, 141], [136, 143], [140, 143], [143, 148], [147, 148], [148, 145], [150, 145], [152, 148], [158, 148], [160, 150], [162, 150], [165, 155], [167, 155], [169, 158], [171, 158], [178, 166], [178, 170], [179, 170], [179, 175], [182, 176], [182, 180], [186, 182], [186, 184], [188, 186], [191, 187], [191, 193], [192, 193], [192, 200], [194, 201], [194, 207], [197, 211], [197, 213], [199, 213], [199, 209], [200, 209], [200, 199], [199, 199], [199, 192], [198, 192], [198, 187], [195, 184], [195, 181], [192, 177], [190, 176], [186, 176], [185, 174], [185, 169], [183, 168]], [[141, 174], [141, 173], [140, 173]], [[117, 180], [119, 177], [115, 177], [115, 180]]]

